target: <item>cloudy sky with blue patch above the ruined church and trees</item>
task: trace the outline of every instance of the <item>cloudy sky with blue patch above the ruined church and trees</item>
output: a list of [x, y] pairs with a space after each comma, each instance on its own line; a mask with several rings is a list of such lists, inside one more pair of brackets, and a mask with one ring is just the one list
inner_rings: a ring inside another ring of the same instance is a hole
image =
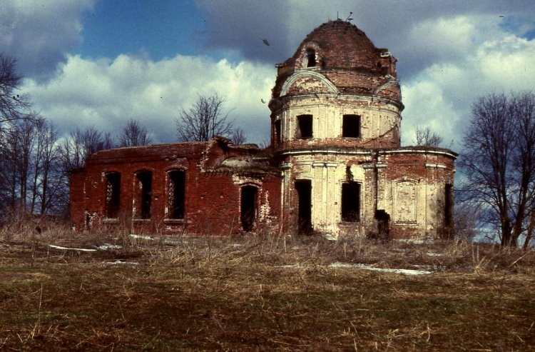
[[418, 125], [456, 149], [478, 96], [535, 91], [533, 0], [1, 0], [0, 52], [61, 133], [136, 119], [175, 141], [180, 109], [217, 93], [248, 141], [267, 144], [274, 65], [350, 12], [398, 59], [405, 145]]

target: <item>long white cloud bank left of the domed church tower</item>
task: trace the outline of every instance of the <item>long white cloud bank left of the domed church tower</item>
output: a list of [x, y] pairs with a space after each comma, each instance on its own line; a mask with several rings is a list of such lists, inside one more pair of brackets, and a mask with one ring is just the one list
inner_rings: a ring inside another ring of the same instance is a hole
[[275, 69], [243, 61], [232, 65], [203, 56], [175, 56], [151, 61], [120, 55], [89, 60], [69, 56], [58, 75], [46, 84], [26, 80], [24, 91], [41, 116], [61, 126], [63, 133], [95, 126], [118, 134], [129, 119], [136, 119], [153, 134], [154, 141], [175, 141], [175, 119], [198, 94], [225, 96], [225, 109], [252, 142], [269, 136], [269, 109]]

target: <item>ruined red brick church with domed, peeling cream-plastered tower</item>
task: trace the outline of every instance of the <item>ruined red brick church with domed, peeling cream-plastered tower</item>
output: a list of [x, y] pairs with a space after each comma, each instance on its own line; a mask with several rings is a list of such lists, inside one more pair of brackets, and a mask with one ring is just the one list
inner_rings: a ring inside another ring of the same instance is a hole
[[322, 24], [277, 64], [270, 147], [99, 151], [71, 176], [76, 228], [448, 236], [457, 154], [400, 145], [396, 61], [355, 25]]

